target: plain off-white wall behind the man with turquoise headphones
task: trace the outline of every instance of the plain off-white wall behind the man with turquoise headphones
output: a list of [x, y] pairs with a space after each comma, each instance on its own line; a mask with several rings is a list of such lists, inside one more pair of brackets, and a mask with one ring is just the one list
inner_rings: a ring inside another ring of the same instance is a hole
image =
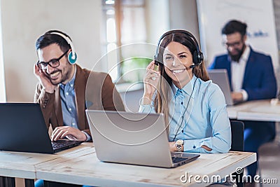
[[[7, 102], [33, 102], [35, 41], [50, 29], [69, 34], [78, 64], [92, 69], [101, 57], [101, 1], [1, 0]], [[96, 70], [101, 70], [97, 67]]]

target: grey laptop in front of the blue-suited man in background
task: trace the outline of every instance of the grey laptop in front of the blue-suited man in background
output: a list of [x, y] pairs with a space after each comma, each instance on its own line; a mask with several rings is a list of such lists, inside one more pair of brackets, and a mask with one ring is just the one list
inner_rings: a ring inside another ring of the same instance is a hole
[[232, 100], [230, 81], [228, 80], [227, 69], [208, 69], [208, 74], [213, 83], [216, 83], [225, 95], [225, 103], [228, 105], [237, 104]]

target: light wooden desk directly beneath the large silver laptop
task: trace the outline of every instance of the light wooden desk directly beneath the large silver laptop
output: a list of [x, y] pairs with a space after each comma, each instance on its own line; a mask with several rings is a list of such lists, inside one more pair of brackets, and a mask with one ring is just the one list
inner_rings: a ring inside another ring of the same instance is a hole
[[[100, 162], [92, 144], [88, 149], [69, 151], [55, 160], [36, 165], [36, 178], [90, 186], [207, 186], [209, 183], [182, 183], [180, 177], [224, 177], [256, 161], [255, 153], [230, 152], [201, 154], [200, 158], [181, 167], [165, 169]], [[91, 146], [91, 147], [90, 147]], [[202, 179], [200, 179], [202, 180]]]

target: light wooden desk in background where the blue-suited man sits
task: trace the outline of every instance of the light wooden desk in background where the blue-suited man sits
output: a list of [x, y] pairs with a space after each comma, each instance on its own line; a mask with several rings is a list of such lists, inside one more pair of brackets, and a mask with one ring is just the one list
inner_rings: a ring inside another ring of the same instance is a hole
[[270, 104], [271, 99], [255, 100], [228, 106], [231, 119], [280, 122], [280, 104]]

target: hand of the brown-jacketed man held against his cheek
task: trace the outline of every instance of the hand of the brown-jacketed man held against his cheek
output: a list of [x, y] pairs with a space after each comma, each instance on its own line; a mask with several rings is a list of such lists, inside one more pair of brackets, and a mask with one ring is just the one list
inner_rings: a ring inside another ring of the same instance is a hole
[[53, 93], [55, 91], [57, 85], [53, 85], [50, 82], [50, 79], [43, 73], [37, 64], [34, 64], [34, 75], [38, 78], [38, 81], [40, 81], [45, 92]]

